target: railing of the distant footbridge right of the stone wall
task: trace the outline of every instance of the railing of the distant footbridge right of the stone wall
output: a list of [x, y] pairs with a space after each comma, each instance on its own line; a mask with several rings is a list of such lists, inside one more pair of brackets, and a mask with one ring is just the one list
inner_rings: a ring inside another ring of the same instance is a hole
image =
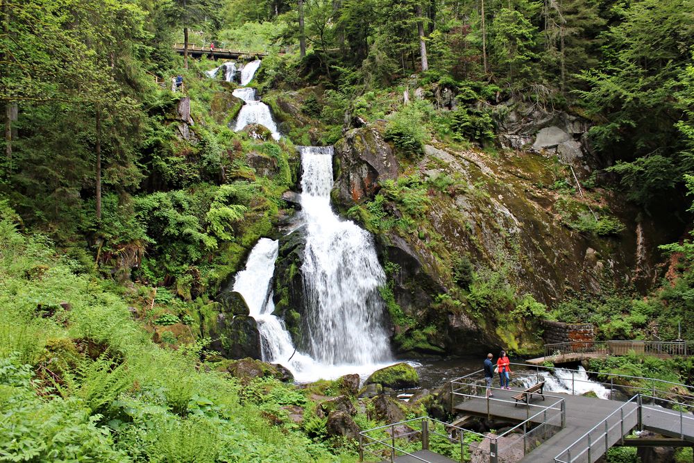
[[545, 344], [545, 357], [572, 353], [626, 355], [630, 351], [646, 355], [672, 357], [694, 354], [692, 341], [574, 341]]

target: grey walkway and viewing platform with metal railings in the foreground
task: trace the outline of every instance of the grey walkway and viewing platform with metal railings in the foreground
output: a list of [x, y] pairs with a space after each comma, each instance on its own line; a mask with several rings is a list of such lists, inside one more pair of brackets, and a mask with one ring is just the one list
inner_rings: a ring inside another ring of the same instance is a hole
[[[523, 366], [516, 365], [516, 371], [520, 371], [519, 367]], [[538, 367], [525, 365], [525, 368]], [[392, 423], [360, 434], [359, 461], [595, 463], [614, 445], [694, 446], [692, 387], [672, 387], [675, 383], [650, 380], [657, 387], [634, 387], [639, 392], [625, 401], [614, 400], [629, 394], [623, 388], [620, 391], [602, 391], [609, 394], [607, 399], [552, 392], [544, 394], [545, 400], [534, 396], [526, 406], [525, 403], [516, 403], [514, 395], [534, 384], [540, 378], [539, 373], [514, 374], [514, 388], [493, 388], [491, 398], [485, 397], [486, 387], [484, 379], [480, 378], [481, 373], [477, 371], [450, 382], [449, 411], [491, 419], [508, 430], [498, 435], [482, 435], [455, 423], [431, 418]], [[633, 382], [637, 378], [622, 379]], [[668, 398], [663, 398], [665, 396]], [[636, 429], [652, 430], [667, 437], [648, 439], [648, 442], [627, 437]], [[448, 441], [459, 445], [459, 458], [453, 460], [432, 453], [429, 448], [432, 434], [446, 436]], [[477, 438], [464, 438], [470, 434]], [[405, 451], [403, 446], [412, 448], [412, 444], [407, 446], [406, 443], [413, 439], [421, 441], [421, 450]], [[465, 440], [477, 442], [466, 443]], [[375, 460], [364, 460], [365, 455], [374, 455]]]

